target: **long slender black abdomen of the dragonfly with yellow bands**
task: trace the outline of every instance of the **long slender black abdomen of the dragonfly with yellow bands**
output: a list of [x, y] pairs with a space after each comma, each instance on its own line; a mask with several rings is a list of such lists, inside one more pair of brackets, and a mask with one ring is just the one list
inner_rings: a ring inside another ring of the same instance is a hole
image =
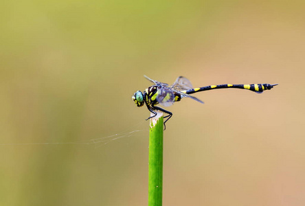
[[226, 89], [226, 88], [236, 88], [236, 89], [248, 89], [255, 91], [256, 93], [262, 93], [265, 90], [272, 89], [278, 84], [219, 84], [219, 85], [210, 85], [206, 87], [198, 87], [194, 89], [188, 89], [183, 91], [183, 93], [192, 94], [199, 91], [207, 91], [211, 89]]

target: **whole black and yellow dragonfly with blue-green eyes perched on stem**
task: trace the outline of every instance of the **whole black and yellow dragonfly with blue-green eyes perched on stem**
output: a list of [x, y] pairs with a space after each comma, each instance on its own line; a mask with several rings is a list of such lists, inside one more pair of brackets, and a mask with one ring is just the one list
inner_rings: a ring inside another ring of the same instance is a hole
[[[192, 87], [192, 83], [190, 80], [183, 76], [179, 76], [177, 80], [172, 85], [168, 85], [163, 82], [158, 82], [156, 80], [152, 80], [148, 78], [148, 76], [144, 77], [148, 79], [150, 82], [153, 82], [153, 86], [148, 87], [142, 93], [142, 91], [136, 91], [132, 100], [138, 107], [144, 106], [146, 104], [148, 110], [153, 113], [152, 116], [148, 117], [148, 119], [157, 116], [157, 110], [166, 113], [163, 122], [164, 130], [166, 129], [166, 122], [172, 117], [172, 113], [167, 111], [164, 108], [156, 106], [157, 104], [161, 104], [161, 106], [171, 106], [174, 102], [179, 102], [182, 98], [190, 98], [197, 102], [203, 104], [203, 101], [195, 98], [190, 95], [192, 93], [197, 93], [200, 91], [207, 91], [212, 89], [228, 89], [228, 88], [236, 88], [236, 89], [247, 89], [250, 91], [254, 91], [256, 93], [262, 93], [265, 90], [270, 90], [274, 86], [278, 84], [218, 84], [218, 85], [210, 85], [205, 87]], [[146, 120], [148, 120], [146, 119]]]

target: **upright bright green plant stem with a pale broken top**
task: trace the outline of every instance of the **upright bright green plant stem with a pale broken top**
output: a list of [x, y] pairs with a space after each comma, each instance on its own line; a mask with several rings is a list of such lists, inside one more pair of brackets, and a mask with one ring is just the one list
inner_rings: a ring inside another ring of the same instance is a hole
[[163, 113], [150, 119], [148, 157], [148, 206], [162, 205]]

